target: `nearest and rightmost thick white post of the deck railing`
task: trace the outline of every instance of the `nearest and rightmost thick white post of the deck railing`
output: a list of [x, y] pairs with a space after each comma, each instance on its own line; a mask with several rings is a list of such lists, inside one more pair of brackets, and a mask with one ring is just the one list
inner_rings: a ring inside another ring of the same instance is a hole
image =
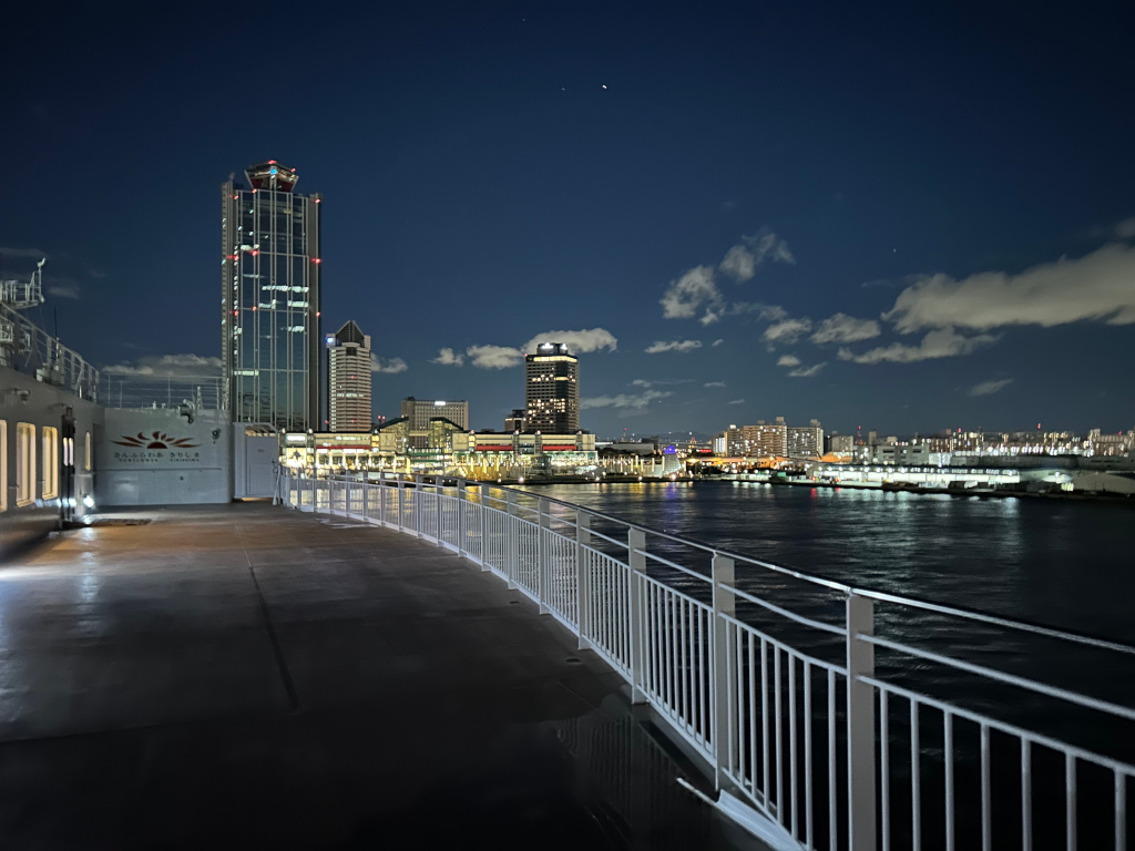
[[875, 689], [861, 677], [875, 675], [875, 646], [859, 639], [875, 634], [875, 604], [856, 593], [847, 601], [848, 642], [848, 846], [875, 848]]

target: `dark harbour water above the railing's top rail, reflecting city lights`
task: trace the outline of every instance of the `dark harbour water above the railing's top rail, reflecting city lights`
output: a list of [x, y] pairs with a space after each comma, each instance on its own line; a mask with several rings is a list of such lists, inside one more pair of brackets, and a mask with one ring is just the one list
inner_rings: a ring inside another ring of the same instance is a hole
[[1126, 506], [755, 482], [532, 490], [848, 584], [1135, 642]]

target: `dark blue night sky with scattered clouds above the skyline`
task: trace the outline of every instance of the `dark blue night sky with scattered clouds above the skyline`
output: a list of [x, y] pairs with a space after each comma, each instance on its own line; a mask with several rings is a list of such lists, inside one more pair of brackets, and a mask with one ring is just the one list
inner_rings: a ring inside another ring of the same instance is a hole
[[24, 12], [0, 277], [45, 252], [100, 365], [216, 356], [218, 186], [274, 158], [325, 330], [405, 364], [377, 413], [499, 428], [521, 370], [477, 364], [558, 330], [602, 435], [1135, 423], [1124, 7], [612, 6]]

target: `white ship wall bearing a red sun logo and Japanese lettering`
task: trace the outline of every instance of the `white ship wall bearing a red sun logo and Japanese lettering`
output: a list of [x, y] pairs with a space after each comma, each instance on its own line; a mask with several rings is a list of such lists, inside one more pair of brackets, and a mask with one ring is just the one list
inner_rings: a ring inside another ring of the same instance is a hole
[[107, 408], [99, 430], [99, 507], [228, 503], [232, 423], [222, 411]]

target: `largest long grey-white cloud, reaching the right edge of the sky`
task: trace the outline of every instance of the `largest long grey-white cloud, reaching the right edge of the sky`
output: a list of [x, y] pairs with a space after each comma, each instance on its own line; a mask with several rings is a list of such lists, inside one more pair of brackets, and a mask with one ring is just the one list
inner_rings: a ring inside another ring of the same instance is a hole
[[1019, 275], [978, 272], [962, 280], [934, 275], [903, 289], [883, 319], [900, 334], [949, 326], [984, 331], [1083, 320], [1135, 323], [1135, 247], [1112, 243]]

